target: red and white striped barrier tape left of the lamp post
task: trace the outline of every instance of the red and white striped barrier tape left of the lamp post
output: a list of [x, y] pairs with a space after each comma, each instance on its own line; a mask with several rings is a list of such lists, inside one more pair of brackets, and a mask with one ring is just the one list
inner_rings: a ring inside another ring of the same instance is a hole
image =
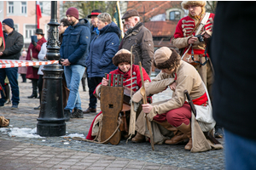
[[21, 67], [21, 66], [33, 66], [33, 65], [51, 65], [58, 64], [59, 60], [49, 60], [49, 61], [21, 61], [21, 60], [13, 60], [13, 59], [0, 59], [0, 69], [1, 68], [13, 68], [13, 67]]

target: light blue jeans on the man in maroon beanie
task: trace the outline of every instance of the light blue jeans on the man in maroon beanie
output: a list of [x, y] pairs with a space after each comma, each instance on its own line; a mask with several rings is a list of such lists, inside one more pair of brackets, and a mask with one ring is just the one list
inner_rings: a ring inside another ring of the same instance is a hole
[[64, 66], [64, 74], [66, 77], [67, 88], [69, 89], [69, 96], [67, 99], [67, 106], [65, 110], [73, 111], [73, 108], [82, 110], [81, 99], [79, 96], [79, 85], [83, 77], [85, 67], [82, 65]]

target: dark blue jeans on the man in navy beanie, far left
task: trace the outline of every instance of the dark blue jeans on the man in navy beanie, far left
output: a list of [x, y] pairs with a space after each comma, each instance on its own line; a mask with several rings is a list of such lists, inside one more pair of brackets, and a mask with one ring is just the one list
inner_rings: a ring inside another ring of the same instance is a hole
[[[5, 77], [8, 77], [9, 84], [12, 90], [12, 103], [13, 105], [19, 105], [20, 103], [20, 91], [19, 91], [19, 85], [18, 85], [18, 67], [15, 68], [5, 68], [0, 69], [0, 82], [2, 86], [4, 87], [4, 79]], [[4, 104], [5, 99], [3, 95], [3, 91], [1, 90], [1, 96], [0, 103]]]

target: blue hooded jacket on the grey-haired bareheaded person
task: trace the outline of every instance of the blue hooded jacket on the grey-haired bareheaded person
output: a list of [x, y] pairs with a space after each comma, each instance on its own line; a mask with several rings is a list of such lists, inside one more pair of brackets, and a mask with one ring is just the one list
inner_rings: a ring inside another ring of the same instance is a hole
[[86, 58], [88, 77], [104, 77], [105, 73], [117, 68], [112, 58], [119, 50], [119, 37], [119, 27], [111, 22], [90, 42], [89, 57]]

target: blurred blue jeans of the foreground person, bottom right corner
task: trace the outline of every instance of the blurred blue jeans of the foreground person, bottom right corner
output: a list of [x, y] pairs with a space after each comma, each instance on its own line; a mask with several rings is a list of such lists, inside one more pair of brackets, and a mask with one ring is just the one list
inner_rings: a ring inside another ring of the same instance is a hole
[[224, 140], [226, 170], [256, 169], [255, 139], [247, 139], [224, 129]]

